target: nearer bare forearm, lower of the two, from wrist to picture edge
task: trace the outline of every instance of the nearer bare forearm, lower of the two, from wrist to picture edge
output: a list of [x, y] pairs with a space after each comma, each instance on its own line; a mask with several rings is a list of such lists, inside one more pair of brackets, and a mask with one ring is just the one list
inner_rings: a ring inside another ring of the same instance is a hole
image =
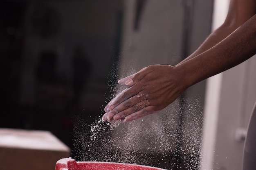
[[242, 63], [256, 54], [256, 15], [202, 54], [175, 67], [184, 74], [187, 87]]

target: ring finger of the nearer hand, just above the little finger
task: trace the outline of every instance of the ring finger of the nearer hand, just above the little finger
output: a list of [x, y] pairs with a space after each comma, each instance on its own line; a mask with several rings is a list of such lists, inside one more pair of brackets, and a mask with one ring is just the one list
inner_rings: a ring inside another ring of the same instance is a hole
[[[137, 102], [136, 102], [136, 103], [137, 103]], [[144, 109], [144, 108], [147, 107], [148, 105], [149, 105], [149, 102], [146, 101], [146, 100], [143, 100], [143, 101], [141, 101], [141, 102], [139, 102], [139, 103], [137, 103], [137, 104], [135, 104], [135, 105], [129, 107], [128, 109], [125, 109], [125, 110], [120, 111], [119, 113], [115, 114], [115, 116], [113, 117], [113, 119], [114, 119], [115, 121], [120, 120], [120, 119], [122, 120], [122, 119], [124, 119], [126, 116], [128, 116], [128, 115], [130, 115], [130, 114], [132, 114], [132, 113], [135, 113], [135, 112], [137, 112], [137, 111], [139, 111], [139, 110], [141, 110], [141, 109]], [[118, 109], [118, 108], [116, 107], [115, 109]]]

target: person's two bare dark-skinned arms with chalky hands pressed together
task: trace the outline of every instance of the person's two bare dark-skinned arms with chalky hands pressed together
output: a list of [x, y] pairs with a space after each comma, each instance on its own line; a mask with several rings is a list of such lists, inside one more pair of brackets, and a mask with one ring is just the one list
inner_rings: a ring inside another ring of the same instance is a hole
[[175, 66], [150, 65], [119, 80], [128, 88], [105, 107], [103, 120], [129, 122], [164, 109], [188, 87], [256, 54], [256, 0], [231, 0], [225, 22]]

